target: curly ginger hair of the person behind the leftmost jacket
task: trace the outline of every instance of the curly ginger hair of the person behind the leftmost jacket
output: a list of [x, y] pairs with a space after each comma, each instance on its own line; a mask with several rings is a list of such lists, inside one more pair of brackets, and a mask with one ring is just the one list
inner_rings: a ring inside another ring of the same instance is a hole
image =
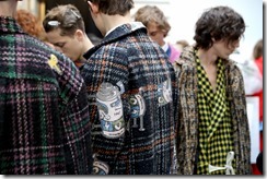
[[15, 20], [25, 33], [46, 41], [45, 29], [40, 21], [33, 13], [27, 10], [18, 10]]

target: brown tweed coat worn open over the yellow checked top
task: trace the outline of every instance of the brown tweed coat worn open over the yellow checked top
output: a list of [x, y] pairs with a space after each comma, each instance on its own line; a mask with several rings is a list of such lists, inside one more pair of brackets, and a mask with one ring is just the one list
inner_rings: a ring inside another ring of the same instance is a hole
[[[187, 47], [175, 64], [178, 85], [178, 134], [177, 169], [178, 175], [193, 175], [198, 147], [198, 80], [194, 47]], [[243, 76], [234, 61], [222, 60], [225, 68], [225, 90], [230, 103], [233, 123], [235, 174], [249, 175], [251, 138], [246, 114], [246, 99]]]

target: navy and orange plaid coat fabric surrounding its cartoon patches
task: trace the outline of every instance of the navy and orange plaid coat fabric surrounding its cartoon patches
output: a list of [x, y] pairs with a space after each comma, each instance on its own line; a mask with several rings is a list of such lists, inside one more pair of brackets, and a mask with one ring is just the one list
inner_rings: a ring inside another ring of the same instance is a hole
[[[138, 22], [124, 24], [90, 49], [81, 74], [88, 85], [92, 120], [93, 153], [109, 175], [170, 175], [176, 172], [175, 156], [175, 74], [169, 57], [147, 35]], [[161, 85], [171, 82], [172, 100], [161, 105]], [[124, 135], [103, 136], [95, 94], [103, 82], [118, 86], [124, 110]], [[140, 93], [140, 88], [141, 93]], [[140, 93], [146, 114], [131, 118], [130, 96]], [[140, 126], [135, 128], [135, 120]], [[96, 167], [96, 166], [94, 166]], [[94, 168], [95, 169], [95, 168]], [[98, 168], [96, 169], [98, 171]]]

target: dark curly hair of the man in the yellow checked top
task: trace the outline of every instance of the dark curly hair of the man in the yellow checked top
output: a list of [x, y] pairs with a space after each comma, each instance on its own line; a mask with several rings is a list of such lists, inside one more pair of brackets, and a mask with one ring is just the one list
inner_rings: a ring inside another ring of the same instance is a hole
[[201, 14], [196, 23], [195, 36], [197, 48], [209, 49], [213, 40], [231, 44], [240, 39], [245, 32], [243, 17], [229, 7], [216, 7]]

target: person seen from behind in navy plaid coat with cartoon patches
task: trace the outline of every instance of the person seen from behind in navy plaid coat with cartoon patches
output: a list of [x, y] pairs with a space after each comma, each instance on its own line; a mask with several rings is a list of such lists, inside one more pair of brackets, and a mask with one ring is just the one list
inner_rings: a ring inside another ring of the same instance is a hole
[[88, 84], [97, 175], [176, 174], [175, 73], [140, 22], [132, 0], [90, 0], [104, 38], [90, 49]]

